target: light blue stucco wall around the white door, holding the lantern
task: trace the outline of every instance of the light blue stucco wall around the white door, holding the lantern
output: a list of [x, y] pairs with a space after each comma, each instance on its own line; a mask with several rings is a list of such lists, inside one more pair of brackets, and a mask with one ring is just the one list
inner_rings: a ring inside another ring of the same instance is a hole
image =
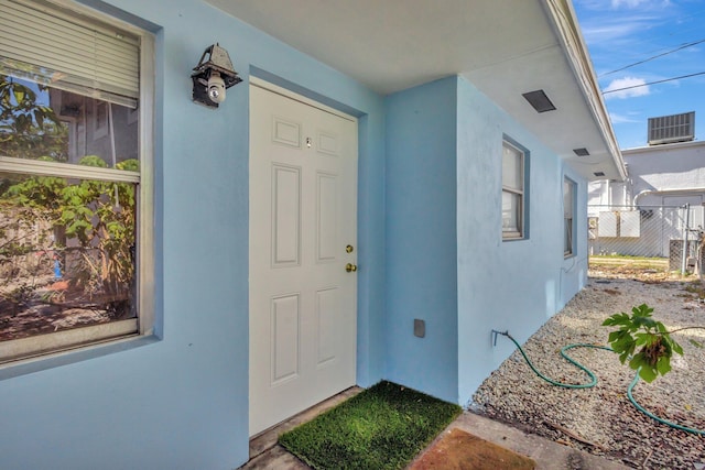
[[[249, 73], [360, 117], [360, 385], [384, 368], [383, 101], [198, 0], [85, 3], [156, 34], [161, 339], [0, 371], [0, 468], [232, 469], [248, 458]], [[245, 79], [218, 110], [191, 101], [192, 68], [215, 42]]]

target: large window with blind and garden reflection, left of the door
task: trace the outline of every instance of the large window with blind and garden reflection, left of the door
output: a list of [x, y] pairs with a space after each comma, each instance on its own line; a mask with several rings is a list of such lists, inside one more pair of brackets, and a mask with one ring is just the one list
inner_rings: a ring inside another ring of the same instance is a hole
[[0, 364], [151, 328], [152, 48], [78, 4], [0, 0]]

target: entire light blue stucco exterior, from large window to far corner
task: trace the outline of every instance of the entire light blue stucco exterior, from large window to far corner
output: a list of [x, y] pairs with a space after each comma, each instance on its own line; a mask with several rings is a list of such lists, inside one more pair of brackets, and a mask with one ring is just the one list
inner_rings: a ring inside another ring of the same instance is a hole
[[[247, 460], [250, 74], [359, 117], [359, 385], [464, 403], [511, 352], [491, 348], [491, 328], [523, 340], [584, 284], [584, 212], [576, 262], [563, 259], [567, 170], [465, 80], [382, 99], [199, 0], [84, 3], [156, 35], [158, 335], [0, 371], [3, 470]], [[191, 101], [189, 74], [215, 42], [245, 81], [210, 110]], [[513, 243], [500, 232], [503, 134], [531, 151], [531, 237]]]

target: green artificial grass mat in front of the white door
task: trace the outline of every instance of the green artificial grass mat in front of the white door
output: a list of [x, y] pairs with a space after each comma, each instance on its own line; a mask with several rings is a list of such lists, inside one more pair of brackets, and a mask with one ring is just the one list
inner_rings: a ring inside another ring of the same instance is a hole
[[380, 382], [279, 437], [314, 469], [402, 469], [462, 412], [391, 382]]

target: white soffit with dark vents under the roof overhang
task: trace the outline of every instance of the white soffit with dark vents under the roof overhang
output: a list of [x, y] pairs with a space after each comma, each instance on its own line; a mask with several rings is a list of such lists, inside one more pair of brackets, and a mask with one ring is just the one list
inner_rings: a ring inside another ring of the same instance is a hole
[[[206, 1], [381, 95], [462, 75], [583, 176], [621, 178], [544, 10], [556, 0]], [[521, 96], [538, 89], [556, 111], [536, 113]]]

